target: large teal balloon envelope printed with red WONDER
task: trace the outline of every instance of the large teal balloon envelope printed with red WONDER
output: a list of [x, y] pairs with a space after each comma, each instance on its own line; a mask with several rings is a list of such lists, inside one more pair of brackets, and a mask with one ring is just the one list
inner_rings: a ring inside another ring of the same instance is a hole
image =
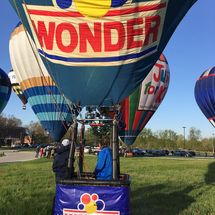
[[111, 106], [140, 85], [196, 0], [10, 2], [65, 96]]

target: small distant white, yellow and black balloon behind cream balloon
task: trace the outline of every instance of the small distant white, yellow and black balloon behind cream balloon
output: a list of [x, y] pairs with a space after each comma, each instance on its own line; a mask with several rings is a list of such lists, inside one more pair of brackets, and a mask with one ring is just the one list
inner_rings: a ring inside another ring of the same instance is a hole
[[10, 82], [11, 82], [11, 87], [14, 91], [14, 93], [16, 93], [16, 95], [19, 97], [19, 99], [22, 101], [22, 108], [25, 110], [26, 109], [26, 104], [27, 104], [27, 99], [25, 98], [22, 89], [19, 85], [19, 83], [16, 80], [16, 75], [13, 72], [13, 70], [11, 70], [8, 73], [8, 77], [10, 78]]

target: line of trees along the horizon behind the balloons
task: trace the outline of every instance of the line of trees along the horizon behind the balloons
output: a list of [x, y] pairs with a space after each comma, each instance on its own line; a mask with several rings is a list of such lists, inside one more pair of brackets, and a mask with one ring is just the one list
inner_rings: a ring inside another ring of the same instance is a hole
[[[25, 131], [32, 137], [33, 144], [52, 143], [51, 137], [48, 132], [43, 129], [39, 122], [30, 122], [27, 125], [23, 125], [22, 120], [14, 117], [13, 115], [5, 116], [0, 115], [0, 140], [4, 140], [10, 136], [20, 136], [20, 133]], [[85, 142], [86, 145], [95, 146], [98, 144], [99, 139], [104, 133], [108, 133], [111, 136], [110, 127], [86, 127], [85, 129]], [[80, 132], [79, 132], [80, 133]], [[69, 129], [67, 134], [63, 138], [70, 138], [72, 136], [72, 130]], [[78, 136], [79, 139], [79, 136]], [[123, 145], [123, 144], [122, 144]], [[160, 131], [152, 131], [151, 129], [144, 128], [138, 135], [132, 148], [144, 148], [144, 149], [190, 149], [196, 151], [208, 151], [212, 152], [214, 149], [213, 137], [202, 138], [201, 130], [191, 127], [188, 130], [186, 139], [181, 134], [177, 134], [171, 129], [165, 129]]]

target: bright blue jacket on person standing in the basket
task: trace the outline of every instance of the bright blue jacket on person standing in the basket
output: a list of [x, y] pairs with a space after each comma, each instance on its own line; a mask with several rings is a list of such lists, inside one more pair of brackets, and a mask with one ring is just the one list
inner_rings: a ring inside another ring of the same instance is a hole
[[95, 176], [98, 180], [112, 180], [112, 150], [104, 147], [98, 154], [98, 160], [95, 168]]

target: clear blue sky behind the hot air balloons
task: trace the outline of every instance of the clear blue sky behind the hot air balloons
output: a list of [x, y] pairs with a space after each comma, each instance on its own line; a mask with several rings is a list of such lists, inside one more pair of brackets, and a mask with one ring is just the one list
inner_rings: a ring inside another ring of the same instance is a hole
[[[215, 66], [215, 1], [198, 0], [177, 27], [164, 54], [170, 67], [168, 92], [146, 128], [152, 131], [171, 129], [187, 137], [189, 129], [201, 130], [202, 137], [212, 137], [213, 126], [199, 109], [194, 98], [198, 77]], [[18, 17], [9, 4], [1, 0], [0, 6], [0, 67], [6, 73], [11, 69], [8, 44]], [[37, 121], [31, 107], [22, 110], [20, 100], [12, 93], [3, 114], [14, 115], [24, 125]]]

